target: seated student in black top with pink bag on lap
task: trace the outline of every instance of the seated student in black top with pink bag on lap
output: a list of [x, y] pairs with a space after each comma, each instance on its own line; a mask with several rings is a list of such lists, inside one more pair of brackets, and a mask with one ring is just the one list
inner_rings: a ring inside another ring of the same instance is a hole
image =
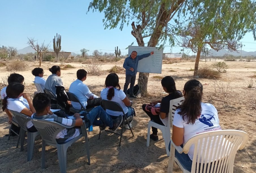
[[[170, 100], [182, 97], [182, 93], [176, 89], [175, 82], [171, 76], [165, 76], [162, 79], [161, 84], [164, 91], [168, 93], [168, 95], [163, 97], [162, 100], [155, 100], [150, 102], [150, 104], [152, 105], [161, 103], [160, 113], [157, 115], [155, 113], [152, 114], [151, 110], [147, 108], [147, 104], [143, 104], [142, 109], [150, 117], [150, 120], [153, 120], [155, 123], [160, 124], [162, 126], [167, 126], [170, 109]], [[150, 139], [152, 139], [153, 141], [159, 141], [157, 132], [157, 128], [152, 126], [152, 134], [150, 135]]]

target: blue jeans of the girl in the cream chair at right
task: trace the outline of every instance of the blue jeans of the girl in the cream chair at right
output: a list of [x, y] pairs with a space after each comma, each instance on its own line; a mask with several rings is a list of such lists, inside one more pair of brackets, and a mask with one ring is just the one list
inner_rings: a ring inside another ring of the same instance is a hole
[[[183, 144], [180, 145], [183, 148]], [[169, 151], [171, 148], [171, 141], [169, 143]], [[191, 172], [191, 168], [192, 168], [192, 160], [190, 159], [190, 157], [188, 156], [188, 154], [185, 153], [179, 153], [176, 149], [175, 149], [175, 157], [177, 158], [177, 160], [180, 162], [180, 164], [188, 171]]]

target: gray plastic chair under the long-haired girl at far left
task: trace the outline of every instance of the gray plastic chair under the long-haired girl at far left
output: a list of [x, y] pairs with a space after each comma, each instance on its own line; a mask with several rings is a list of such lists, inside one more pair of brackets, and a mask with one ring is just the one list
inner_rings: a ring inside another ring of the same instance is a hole
[[[15, 120], [20, 125], [20, 136], [19, 136], [19, 138], [21, 138], [20, 151], [23, 151], [25, 133], [27, 132], [27, 161], [31, 161], [33, 157], [35, 139], [39, 135], [39, 132], [29, 132], [27, 130], [26, 124], [28, 121], [30, 121], [30, 118], [27, 115], [24, 115], [23, 113], [19, 113], [12, 110], [10, 110], [10, 112], [12, 113], [12, 115], [15, 117]], [[18, 141], [18, 144], [19, 144], [19, 141]]]

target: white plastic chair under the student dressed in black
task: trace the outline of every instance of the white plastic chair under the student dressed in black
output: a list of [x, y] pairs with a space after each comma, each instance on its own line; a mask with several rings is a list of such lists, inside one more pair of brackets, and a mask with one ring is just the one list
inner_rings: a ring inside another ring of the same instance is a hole
[[[147, 146], [149, 146], [149, 141], [150, 141], [150, 127], [153, 126], [155, 128], [158, 128], [159, 130], [162, 131], [166, 153], [167, 153], [167, 156], [169, 156], [169, 154], [170, 154], [170, 152], [169, 152], [169, 142], [171, 141], [171, 129], [170, 129], [170, 127], [172, 127], [172, 124], [173, 124], [174, 113], [175, 113], [177, 107], [183, 102], [183, 100], [184, 100], [184, 97], [180, 97], [180, 98], [170, 100], [170, 108], [169, 108], [167, 126], [157, 124], [154, 121], [149, 121], [148, 135], [147, 135]], [[171, 123], [171, 125], [170, 125], [170, 123]]]

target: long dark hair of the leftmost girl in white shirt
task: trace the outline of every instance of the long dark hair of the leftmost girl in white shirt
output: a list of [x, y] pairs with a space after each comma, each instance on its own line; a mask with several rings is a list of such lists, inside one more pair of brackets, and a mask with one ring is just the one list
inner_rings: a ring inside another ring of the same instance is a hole
[[18, 96], [24, 91], [24, 85], [13, 82], [6, 88], [6, 97], [2, 100], [2, 109], [5, 111], [7, 107], [7, 98], [18, 98]]

